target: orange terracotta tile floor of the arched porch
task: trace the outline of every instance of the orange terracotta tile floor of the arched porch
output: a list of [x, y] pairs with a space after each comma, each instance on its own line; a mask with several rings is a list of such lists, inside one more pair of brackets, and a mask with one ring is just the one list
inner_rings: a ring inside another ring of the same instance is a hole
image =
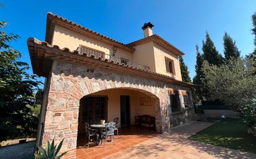
[[[134, 145], [145, 142], [158, 134], [154, 129], [141, 126], [130, 126], [119, 129], [119, 139], [115, 135], [115, 142], [107, 142], [106, 148], [104, 148], [104, 142], [102, 145], [96, 145], [91, 143], [89, 148], [85, 145], [85, 135], [78, 135], [78, 148], [76, 148], [76, 159], [81, 158], [104, 158], [110, 155], [114, 155], [117, 152], [121, 152], [126, 148], [133, 147]], [[121, 156], [119, 156], [121, 157]], [[118, 158], [118, 157], [117, 157]]]

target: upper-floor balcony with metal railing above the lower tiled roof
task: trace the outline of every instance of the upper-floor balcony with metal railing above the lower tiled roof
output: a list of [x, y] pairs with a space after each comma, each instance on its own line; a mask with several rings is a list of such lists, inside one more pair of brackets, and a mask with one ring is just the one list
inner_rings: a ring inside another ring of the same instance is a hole
[[135, 62], [130, 61], [129, 59], [124, 59], [124, 58], [119, 58], [116, 56], [110, 56], [109, 54], [105, 54], [99, 51], [95, 51], [93, 49], [85, 48], [85, 47], [78, 47], [77, 50], [79, 51], [80, 54], [86, 54], [88, 56], [95, 56], [96, 58], [104, 58], [108, 59], [108, 61], [114, 61], [119, 64], [124, 64], [129, 67], [136, 67], [137, 69], [142, 69], [144, 71], [150, 71], [149, 66], [144, 66], [142, 64], [136, 64]]

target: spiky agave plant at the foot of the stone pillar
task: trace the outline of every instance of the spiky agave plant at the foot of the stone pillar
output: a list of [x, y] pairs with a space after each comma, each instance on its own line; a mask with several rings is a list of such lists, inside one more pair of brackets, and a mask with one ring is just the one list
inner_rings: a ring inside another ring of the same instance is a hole
[[67, 152], [64, 152], [58, 155], [58, 152], [60, 152], [60, 148], [62, 148], [63, 140], [60, 142], [58, 147], [57, 145], [54, 145], [54, 139], [52, 140], [51, 144], [49, 141], [47, 141], [47, 145], [45, 148], [43, 148], [40, 145], [37, 145], [37, 147], [39, 148], [40, 154], [35, 154], [35, 157], [37, 159], [60, 159], [67, 153]]

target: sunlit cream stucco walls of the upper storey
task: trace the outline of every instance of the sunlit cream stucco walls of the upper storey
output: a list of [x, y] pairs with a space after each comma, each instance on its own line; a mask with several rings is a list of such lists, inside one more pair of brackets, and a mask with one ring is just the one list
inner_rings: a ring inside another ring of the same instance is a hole
[[[83, 45], [88, 48], [101, 51], [105, 54], [113, 53], [112, 45], [81, 35], [80, 33], [68, 30], [67, 28], [60, 27], [58, 25], [55, 25], [52, 45], [58, 45], [60, 48], [69, 48], [71, 51], [77, 49], [78, 46]], [[176, 80], [181, 80], [178, 56], [153, 41], [134, 46], [134, 48], [134, 53], [129, 53], [123, 49], [117, 48], [116, 57], [129, 59], [137, 64], [149, 66], [150, 71], [174, 77]], [[167, 72], [165, 57], [173, 60], [175, 74]]]

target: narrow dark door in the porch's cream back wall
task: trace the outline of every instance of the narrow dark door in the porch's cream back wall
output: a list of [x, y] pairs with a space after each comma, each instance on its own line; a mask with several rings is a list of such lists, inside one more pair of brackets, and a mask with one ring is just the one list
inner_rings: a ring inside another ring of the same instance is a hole
[[129, 95], [120, 96], [121, 105], [121, 127], [130, 125], [130, 97]]

